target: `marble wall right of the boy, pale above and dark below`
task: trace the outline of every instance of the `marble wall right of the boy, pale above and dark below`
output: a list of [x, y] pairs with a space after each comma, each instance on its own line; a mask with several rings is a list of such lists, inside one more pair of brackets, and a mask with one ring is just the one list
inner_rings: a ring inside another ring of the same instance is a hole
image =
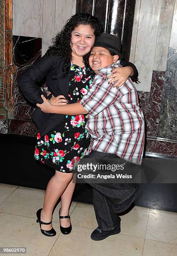
[[147, 153], [177, 156], [177, 3], [136, 1], [130, 61], [140, 84]]

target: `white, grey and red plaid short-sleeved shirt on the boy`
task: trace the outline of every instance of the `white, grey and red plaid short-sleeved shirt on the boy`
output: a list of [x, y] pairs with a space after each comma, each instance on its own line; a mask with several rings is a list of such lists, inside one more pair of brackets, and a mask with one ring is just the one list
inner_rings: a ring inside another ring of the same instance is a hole
[[137, 90], [130, 79], [121, 87], [113, 87], [106, 79], [120, 61], [99, 69], [94, 83], [80, 104], [88, 111], [85, 128], [90, 132], [90, 149], [117, 154], [141, 164], [145, 141], [145, 121], [139, 107]]

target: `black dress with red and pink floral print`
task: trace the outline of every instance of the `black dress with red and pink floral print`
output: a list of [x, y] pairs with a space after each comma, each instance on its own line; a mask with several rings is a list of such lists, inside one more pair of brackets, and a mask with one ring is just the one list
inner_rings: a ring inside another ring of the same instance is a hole
[[[72, 103], [80, 102], [93, 83], [93, 73], [87, 67], [71, 64], [68, 97]], [[66, 115], [55, 131], [43, 137], [37, 134], [35, 159], [60, 172], [71, 173], [84, 157], [91, 136], [85, 125], [87, 115]]]

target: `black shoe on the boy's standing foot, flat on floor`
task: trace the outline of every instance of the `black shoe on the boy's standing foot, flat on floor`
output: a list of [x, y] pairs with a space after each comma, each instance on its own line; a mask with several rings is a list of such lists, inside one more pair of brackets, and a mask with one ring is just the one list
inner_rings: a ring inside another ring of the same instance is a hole
[[92, 232], [90, 237], [92, 240], [100, 241], [100, 240], [107, 238], [108, 236], [116, 235], [118, 233], [120, 233], [120, 224], [118, 225], [118, 227], [115, 230], [111, 230], [111, 231], [103, 231], [99, 227], [97, 227]]

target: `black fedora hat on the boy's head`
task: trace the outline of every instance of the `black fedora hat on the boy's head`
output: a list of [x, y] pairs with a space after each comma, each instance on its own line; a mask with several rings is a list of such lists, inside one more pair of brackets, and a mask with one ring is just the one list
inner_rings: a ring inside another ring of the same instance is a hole
[[100, 46], [100, 47], [106, 48], [106, 49], [112, 51], [113, 53], [119, 55], [120, 60], [123, 59], [123, 56], [120, 52], [121, 42], [120, 42], [120, 39], [115, 35], [102, 33], [95, 40], [95, 44], [93, 47], [95, 47], [95, 46]]

